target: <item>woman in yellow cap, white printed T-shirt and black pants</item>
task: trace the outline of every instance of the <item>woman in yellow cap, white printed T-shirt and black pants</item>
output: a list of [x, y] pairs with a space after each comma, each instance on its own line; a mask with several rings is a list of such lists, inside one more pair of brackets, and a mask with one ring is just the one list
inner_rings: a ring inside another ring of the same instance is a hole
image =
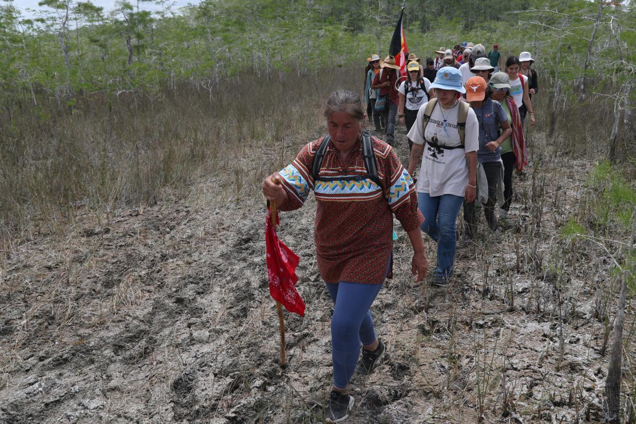
[[[397, 90], [399, 92], [397, 118], [399, 118], [400, 123], [406, 125], [406, 132], [408, 133], [413, 127], [415, 118], [417, 118], [417, 111], [420, 110], [420, 106], [433, 97], [433, 91], [431, 89], [431, 81], [424, 78], [420, 72], [420, 64], [414, 60], [408, 62], [406, 71], [408, 71], [408, 83], [402, 81]], [[409, 151], [412, 146], [413, 142], [408, 140]]]

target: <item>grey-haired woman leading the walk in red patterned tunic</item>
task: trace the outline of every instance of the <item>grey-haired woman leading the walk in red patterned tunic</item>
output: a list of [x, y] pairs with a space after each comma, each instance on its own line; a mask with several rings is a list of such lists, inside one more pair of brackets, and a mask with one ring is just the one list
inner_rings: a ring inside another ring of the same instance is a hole
[[[416, 281], [425, 277], [427, 259], [419, 229], [424, 217], [417, 209], [413, 180], [389, 144], [361, 132], [360, 96], [345, 90], [332, 93], [324, 116], [328, 137], [310, 142], [290, 165], [267, 177], [263, 194], [279, 210], [298, 209], [310, 191], [315, 194], [318, 268], [335, 304], [333, 388], [325, 411], [333, 423], [347, 418], [354, 404], [347, 394], [354, 372], [372, 373], [385, 352], [370, 307], [391, 277], [393, 215], [413, 245]], [[275, 184], [275, 178], [282, 184]]]

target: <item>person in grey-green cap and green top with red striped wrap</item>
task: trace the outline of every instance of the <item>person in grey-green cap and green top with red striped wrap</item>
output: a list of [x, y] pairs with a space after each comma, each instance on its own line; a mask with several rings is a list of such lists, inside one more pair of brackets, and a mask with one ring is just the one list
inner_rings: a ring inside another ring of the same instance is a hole
[[504, 164], [504, 204], [499, 210], [502, 221], [508, 219], [508, 211], [513, 198], [513, 170], [523, 170], [527, 165], [527, 150], [523, 137], [523, 124], [515, 99], [510, 95], [510, 83], [506, 72], [495, 72], [488, 83], [492, 90], [492, 100], [499, 102], [506, 113], [512, 130], [508, 139], [501, 143], [501, 160]]

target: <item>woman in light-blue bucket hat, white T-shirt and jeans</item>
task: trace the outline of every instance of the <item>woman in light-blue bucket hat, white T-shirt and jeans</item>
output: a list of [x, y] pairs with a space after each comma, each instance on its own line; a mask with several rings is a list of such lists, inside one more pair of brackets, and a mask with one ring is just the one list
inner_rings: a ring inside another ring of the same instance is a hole
[[424, 215], [420, 226], [438, 243], [434, 285], [446, 285], [453, 275], [459, 209], [473, 202], [476, 188], [479, 123], [469, 104], [459, 69], [439, 69], [431, 88], [436, 97], [420, 107], [408, 138], [413, 141], [408, 173], [421, 161], [417, 178], [418, 208]]

